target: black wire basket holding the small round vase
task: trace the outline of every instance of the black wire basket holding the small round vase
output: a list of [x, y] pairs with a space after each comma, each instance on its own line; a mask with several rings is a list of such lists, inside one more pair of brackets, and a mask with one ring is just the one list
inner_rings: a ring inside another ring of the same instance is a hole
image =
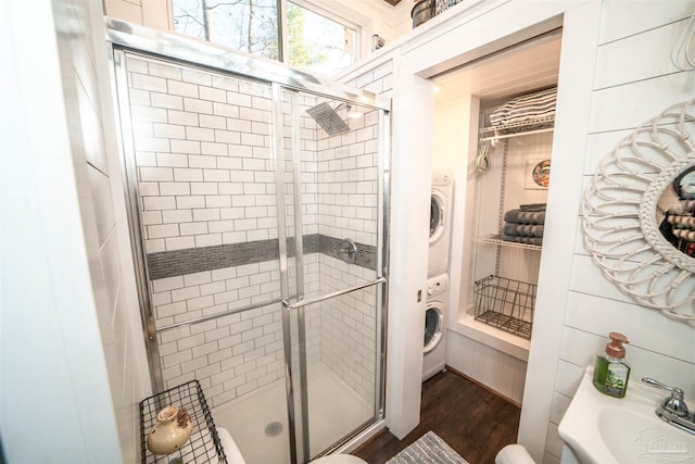
[[[178, 451], [167, 455], [155, 455], [148, 450], [147, 437], [156, 424], [156, 414], [169, 404], [186, 409], [193, 423], [193, 430], [186, 444]], [[143, 464], [227, 463], [213, 416], [198, 380], [191, 380], [142, 400], [140, 402], [140, 438]]]

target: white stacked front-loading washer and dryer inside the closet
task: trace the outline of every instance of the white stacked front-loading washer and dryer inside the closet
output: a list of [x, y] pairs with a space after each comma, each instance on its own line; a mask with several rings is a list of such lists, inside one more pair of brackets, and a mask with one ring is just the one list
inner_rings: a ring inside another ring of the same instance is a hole
[[430, 201], [430, 250], [425, 310], [422, 381], [444, 371], [448, 324], [448, 256], [454, 176], [448, 171], [432, 173]]

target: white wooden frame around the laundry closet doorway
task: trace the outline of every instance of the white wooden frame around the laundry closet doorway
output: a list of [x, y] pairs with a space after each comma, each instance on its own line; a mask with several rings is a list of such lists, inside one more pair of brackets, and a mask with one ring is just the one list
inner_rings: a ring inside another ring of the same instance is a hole
[[[552, 189], [548, 211], [557, 212], [558, 221], [546, 233], [554, 239], [545, 243], [539, 275], [536, 319], [531, 340], [518, 441], [529, 449], [536, 462], [543, 462], [546, 449], [557, 447], [557, 429], [551, 424], [552, 398], [559, 361], [564, 318], [569, 297], [573, 260], [573, 235], [558, 233], [577, 230], [581, 176], [591, 116], [592, 81], [602, 2], [592, 0], [528, 2], [510, 0], [470, 0], [418, 26], [392, 43], [392, 52], [374, 57], [345, 74], [351, 81], [393, 61], [393, 198], [390, 262], [390, 317], [399, 325], [389, 326], [390, 356], [387, 381], [387, 424], [399, 438], [405, 437], [419, 422], [421, 353], [412, 340], [422, 334], [422, 302], [407, 289], [424, 288], [426, 276], [407, 267], [415, 250], [425, 250], [427, 259], [427, 217], [419, 214], [420, 203], [427, 204], [430, 179], [421, 173], [431, 171], [433, 127], [427, 124], [429, 109], [434, 105], [432, 77], [485, 57], [525, 39], [563, 28], [558, 104], [553, 151], [567, 153], [554, 161], [556, 185]], [[418, 108], [417, 117], [408, 114]], [[572, 153], [573, 155], [570, 155]], [[464, 177], [465, 179], [465, 177]], [[465, 204], [465, 191], [457, 188], [455, 204]], [[417, 192], [414, 192], [417, 191]], [[422, 197], [425, 200], [422, 200]], [[462, 201], [463, 200], [463, 201]], [[561, 210], [561, 211], [558, 211]], [[456, 221], [456, 220], [455, 220]], [[422, 225], [424, 230], [415, 228]], [[559, 224], [559, 225], [558, 225]], [[401, 227], [404, 225], [404, 227]], [[455, 226], [455, 224], [454, 224]], [[555, 229], [555, 230], [553, 230]], [[453, 234], [454, 235], [454, 234]], [[549, 262], [551, 256], [553, 262]], [[459, 258], [460, 260], [460, 258]], [[458, 262], [460, 265], [460, 261]], [[455, 263], [453, 263], [456, 266]], [[453, 277], [453, 276], [452, 276]], [[453, 281], [456, 281], [452, 278]], [[457, 287], [453, 285], [452, 287]], [[406, 291], [399, 291], [399, 289]], [[458, 309], [459, 294], [452, 291], [450, 308]], [[393, 333], [393, 330], [403, 333]], [[547, 444], [546, 444], [547, 443]], [[561, 444], [560, 444], [561, 446]]]

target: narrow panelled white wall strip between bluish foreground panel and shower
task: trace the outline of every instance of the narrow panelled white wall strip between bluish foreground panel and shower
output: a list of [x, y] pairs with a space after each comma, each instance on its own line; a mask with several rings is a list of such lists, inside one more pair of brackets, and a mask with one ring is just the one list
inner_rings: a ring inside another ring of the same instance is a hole
[[[123, 457], [135, 460], [140, 449], [138, 403], [150, 394], [150, 385], [149, 378], [139, 372], [147, 358], [140, 321], [132, 311], [137, 296], [129, 272], [132, 264], [119, 163], [112, 156], [117, 143], [109, 130], [113, 124], [113, 100], [102, 84], [108, 81], [110, 72], [101, 40], [102, 12], [86, 0], [54, 3], [54, 10], [60, 12], [59, 30], [68, 21], [79, 24], [72, 34], [60, 35], [65, 39], [60, 43], [61, 57], [72, 63], [64, 70], [67, 114], [71, 121], [80, 123], [72, 124], [68, 130], [111, 406]], [[75, 35], [76, 30], [80, 34]]]

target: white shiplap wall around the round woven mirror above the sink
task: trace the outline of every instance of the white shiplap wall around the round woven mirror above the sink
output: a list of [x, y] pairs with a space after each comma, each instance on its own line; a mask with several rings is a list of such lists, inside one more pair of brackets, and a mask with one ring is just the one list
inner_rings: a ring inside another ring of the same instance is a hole
[[[670, 52], [695, 1], [606, 1], [596, 49], [584, 185], [598, 162], [639, 124], [695, 96], [695, 74], [679, 72]], [[629, 21], [628, 21], [629, 20]], [[581, 193], [581, 192], [578, 192]], [[695, 290], [695, 289], [694, 289]], [[558, 463], [557, 426], [611, 330], [630, 339], [631, 383], [657, 378], [695, 398], [695, 328], [634, 304], [593, 264], [578, 230], [560, 359], [543, 462]]]

